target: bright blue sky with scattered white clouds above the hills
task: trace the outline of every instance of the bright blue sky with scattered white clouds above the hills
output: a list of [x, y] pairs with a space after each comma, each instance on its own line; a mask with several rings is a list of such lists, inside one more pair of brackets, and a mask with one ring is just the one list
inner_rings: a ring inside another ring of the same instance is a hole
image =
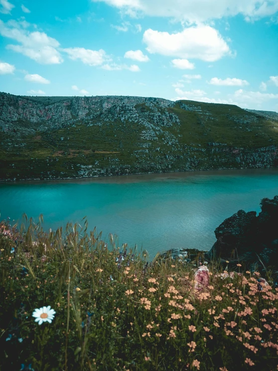
[[0, 91], [278, 111], [278, 0], [0, 0]]

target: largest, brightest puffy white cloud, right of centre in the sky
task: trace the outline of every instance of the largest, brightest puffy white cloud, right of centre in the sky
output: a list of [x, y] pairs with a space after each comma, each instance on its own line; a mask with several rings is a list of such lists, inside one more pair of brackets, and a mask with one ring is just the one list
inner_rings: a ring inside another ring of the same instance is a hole
[[214, 62], [231, 55], [227, 43], [217, 30], [210, 26], [189, 27], [182, 32], [169, 34], [149, 29], [143, 41], [149, 53]]

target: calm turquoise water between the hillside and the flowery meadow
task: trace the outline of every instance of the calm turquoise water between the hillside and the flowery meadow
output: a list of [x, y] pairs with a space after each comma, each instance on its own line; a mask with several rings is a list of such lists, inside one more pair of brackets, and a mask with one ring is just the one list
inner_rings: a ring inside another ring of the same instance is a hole
[[66, 181], [0, 183], [0, 219], [44, 216], [56, 229], [86, 216], [108, 241], [137, 244], [152, 259], [171, 248], [210, 250], [214, 230], [239, 209], [260, 211], [278, 195], [278, 169], [147, 174]]

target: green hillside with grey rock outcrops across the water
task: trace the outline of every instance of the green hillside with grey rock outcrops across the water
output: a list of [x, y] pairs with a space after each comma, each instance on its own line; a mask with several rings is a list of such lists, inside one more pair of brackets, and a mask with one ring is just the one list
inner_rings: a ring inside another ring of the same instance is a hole
[[0, 93], [0, 180], [278, 165], [278, 114], [129, 96]]

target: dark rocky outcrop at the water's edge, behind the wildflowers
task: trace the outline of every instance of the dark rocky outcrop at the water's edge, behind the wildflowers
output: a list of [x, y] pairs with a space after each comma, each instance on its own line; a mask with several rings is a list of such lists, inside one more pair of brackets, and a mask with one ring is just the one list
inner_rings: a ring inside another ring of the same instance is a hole
[[[196, 249], [172, 249], [162, 258], [185, 258], [187, 262], [199, 257], [199, 261], [219, 262], [222, 268], [259, 270], [265, 279], [266, 269], [274, 274], [278, 286], [278, 196], [263, 198], [261, 212], [239, 210], [225, 219], [214, 231], [217, 241], [210, 251]], [[228, 263], [227, 263], [228, 262]]]

